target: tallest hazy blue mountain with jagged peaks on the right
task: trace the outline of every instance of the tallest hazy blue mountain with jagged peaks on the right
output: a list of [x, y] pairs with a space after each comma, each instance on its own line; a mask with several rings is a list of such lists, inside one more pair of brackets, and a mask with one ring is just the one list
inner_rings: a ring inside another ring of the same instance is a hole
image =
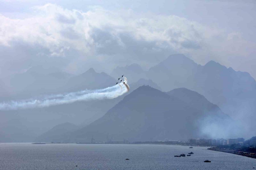
[[246, 130], [256, 128], [256, 81], [247, 72], [235, 71], [215, 61], [202, 66], [183, 54], [174, 54], [151, 67], [147, 76], [164, 91], [181, 87], [196, 91], [240, 120]]

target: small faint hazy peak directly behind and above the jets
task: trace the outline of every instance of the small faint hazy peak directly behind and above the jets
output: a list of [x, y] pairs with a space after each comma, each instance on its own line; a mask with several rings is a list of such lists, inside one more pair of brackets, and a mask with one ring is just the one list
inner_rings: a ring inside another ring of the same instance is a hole
[[138, 64], [131, 64], [125, 67], [118, 66], [113, 69], [110, 75], [117, 80], [123, 74], [125, 75], [125, 77], [129, 77], [129, 83], [135, 83], [139, 79], [146, 77], [146, 72]]

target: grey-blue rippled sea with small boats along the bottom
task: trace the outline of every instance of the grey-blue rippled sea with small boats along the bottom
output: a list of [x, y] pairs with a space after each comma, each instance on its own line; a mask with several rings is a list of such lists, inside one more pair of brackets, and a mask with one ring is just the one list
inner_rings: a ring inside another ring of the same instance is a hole
[[[189, 152], [194, 154], [174, 157]], [[211, 162], [205, 163], [207, 159]], [[256, 168], [256, 159], [199, 146], [0, 143], [0, 170], [239, 170], [253, 167]]]

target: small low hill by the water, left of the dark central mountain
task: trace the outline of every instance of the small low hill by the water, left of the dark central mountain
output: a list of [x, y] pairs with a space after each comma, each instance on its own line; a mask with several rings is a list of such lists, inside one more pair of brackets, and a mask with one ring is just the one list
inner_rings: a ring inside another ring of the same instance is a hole
[[[75, 131], [78, 129], [79, 126], [76, 126], [75, 124], [66, 122], [59, 124], [57, 126], [54, 126], [47, 132], [43, 133], [42, 135], [38, 136], [35, 141], [36, 142], [45, 142], [45, 141], [56, 141], [56, 139], [59, 139], [60, 136], [62, 136], [65, 133]], [[65, 141], [61, 141], [65, 142]]]

